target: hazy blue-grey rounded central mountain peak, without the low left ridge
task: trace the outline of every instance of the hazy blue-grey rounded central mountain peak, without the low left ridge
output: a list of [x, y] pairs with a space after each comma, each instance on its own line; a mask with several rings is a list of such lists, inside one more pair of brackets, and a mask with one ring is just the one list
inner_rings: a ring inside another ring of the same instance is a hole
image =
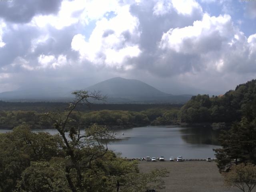
[[100, 90], [102, 95], [107, 96], [106, 102], [110, 103], [184, 103], [192, 96], [167, 94], [142, 81], [120, 77], [102, 81], [86, 90]]

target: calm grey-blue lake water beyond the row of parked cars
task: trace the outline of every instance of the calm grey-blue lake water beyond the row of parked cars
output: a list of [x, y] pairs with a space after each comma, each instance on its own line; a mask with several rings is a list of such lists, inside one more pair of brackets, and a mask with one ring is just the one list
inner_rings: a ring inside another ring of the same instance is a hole
[[[8, 130], [1, 130], [4, 133]], [[46, 131], [56, 134], [56, 130]], [[124, 135], [122, 135], [124, 133]], [[214, 157], [213, 148], [218, 146], [218, 132], [206, 127], [184, 128], [178, 126], [148, 126], [116, 130], [118, 140], [108, 148], [122, 152], [123, 157], [160, 157], [169, 159], [182, 156], [185, 159]]]

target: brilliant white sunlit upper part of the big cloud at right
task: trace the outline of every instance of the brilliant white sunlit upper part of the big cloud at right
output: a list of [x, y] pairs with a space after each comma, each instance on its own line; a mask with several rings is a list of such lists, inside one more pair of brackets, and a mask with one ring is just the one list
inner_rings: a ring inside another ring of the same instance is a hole
[[[212, 33], [219, 34], [222, 37], [230, 36], [230, 27], [232, 28], [232, 21], [229, 15], [210, 17], [208, 14], [204, 14], [203, 19], [195, 21], [193, 26], [171, 28], [164, 33], [159, 47], [161, 49], [170, 48], [176, 52], [198, 52], [199, 47], [195, 47], [195, 45], [200, 42], [202, 37], [212, 38], [210, 36]], [[189, 40], [193, 47], [186, 44]]]

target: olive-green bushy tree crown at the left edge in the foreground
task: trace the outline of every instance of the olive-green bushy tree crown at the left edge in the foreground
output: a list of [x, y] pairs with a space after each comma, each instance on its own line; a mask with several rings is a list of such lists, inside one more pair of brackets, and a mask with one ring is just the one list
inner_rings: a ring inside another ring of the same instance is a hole
[[20, 178], [32, 161], [50, 160], [62, 156], [62, 140], [58, 135], [30, 132], [27, 126], [14, 128], [13, 132], [0, 134], [0, 189], [15, 189]]

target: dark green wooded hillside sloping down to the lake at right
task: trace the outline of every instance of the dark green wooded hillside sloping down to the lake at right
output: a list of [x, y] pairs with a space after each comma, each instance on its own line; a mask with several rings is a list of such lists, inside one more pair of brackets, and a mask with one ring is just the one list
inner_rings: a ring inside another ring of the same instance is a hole
[[240, 84], [221, 96], [192, 96], [180, 109], [178, 120], [188, 123], [234, 122], [256, 115], [256, 80]]

